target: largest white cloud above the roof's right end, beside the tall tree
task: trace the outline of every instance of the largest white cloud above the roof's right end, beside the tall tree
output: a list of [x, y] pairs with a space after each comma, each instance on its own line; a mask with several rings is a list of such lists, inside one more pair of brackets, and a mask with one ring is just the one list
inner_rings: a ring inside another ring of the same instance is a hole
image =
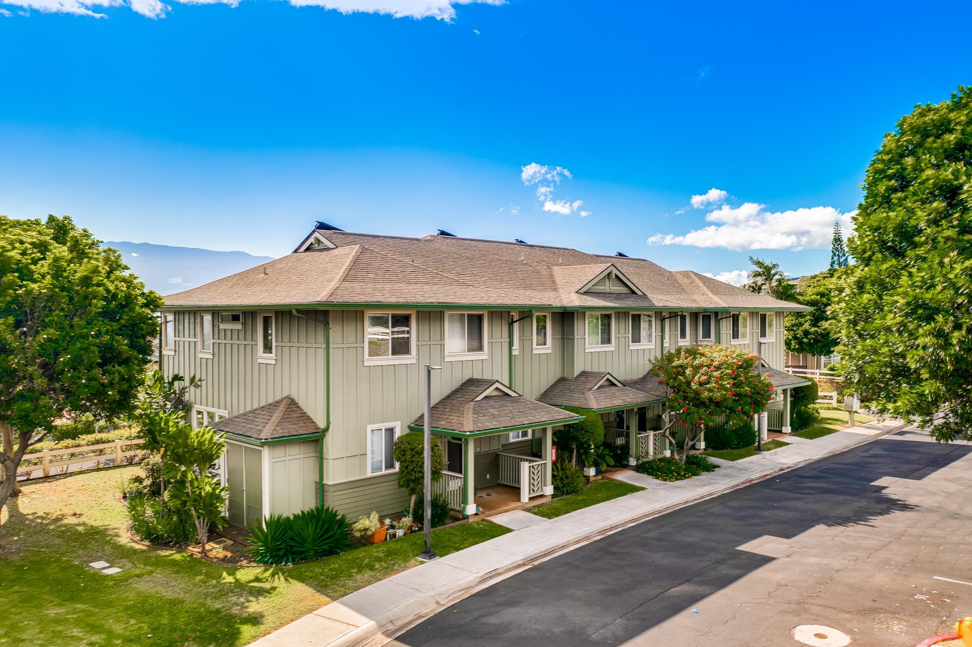
[[[693, 196], [693, 201], [695, 197], [698, 196]], [[683, 235], [656, 234], [647, 242], [648, 245], [687, 245], [737, 252], [822, 249], [830, 245], [834, 221], [839, 221], [848, 235], [851, 234], [851, 218], [856, 213], [842, 214], [834, 207], [771, 212], [766, 205], [755, 202], [745, 202], [739, 207], [724, 204], [706, 215], [706, 221], [714, 224]]]

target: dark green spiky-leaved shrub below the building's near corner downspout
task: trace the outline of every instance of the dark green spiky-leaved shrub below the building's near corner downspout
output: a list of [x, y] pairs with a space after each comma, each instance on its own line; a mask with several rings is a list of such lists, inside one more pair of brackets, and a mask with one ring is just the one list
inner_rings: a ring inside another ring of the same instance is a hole
[[[374, 513], [377, 520], [377, 513]], [[370, 517], [363, 517], [370, 522]], [[246, 550], [255, 562], [281, 564], [317, 560], [351, 548], [348, 518], [329, 507], [314, 507], [290, 517], [269, 515], [251, 526]], [[373, 530], [372, 530], [373, 531]]]

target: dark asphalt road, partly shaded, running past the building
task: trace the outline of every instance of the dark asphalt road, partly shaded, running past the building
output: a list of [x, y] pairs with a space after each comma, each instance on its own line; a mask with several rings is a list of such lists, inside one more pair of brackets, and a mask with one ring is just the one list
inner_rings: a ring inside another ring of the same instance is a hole
[[[399, 645], [907, 647], [972, 615], [972, 445], [902, 431], [541, 562]], [[393, 643], [396, 644], [396, 643]]]

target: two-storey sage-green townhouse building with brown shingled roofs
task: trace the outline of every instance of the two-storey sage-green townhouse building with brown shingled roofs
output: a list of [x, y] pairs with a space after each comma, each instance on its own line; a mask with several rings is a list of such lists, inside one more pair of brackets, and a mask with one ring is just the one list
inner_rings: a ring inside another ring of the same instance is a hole
[[[803, 309], [643, 258], [319, 223], [293, 254], [166, 297], [161, 366], [204, 379], [192, 421], [226, 434], [233, 524], [316, 503], [391, 514], [392, 445], [422, 428], [423, 366], [446, 457], [436, 487], [463, 514], [476, 491], [552, 493], [552, 433], [600, 412], [631, 460], [664, 452], [652, 358], [678, 346], [758, 353], [788, 430], [783, 316]], [[765, 419], [765, 417], [764, 417]]]

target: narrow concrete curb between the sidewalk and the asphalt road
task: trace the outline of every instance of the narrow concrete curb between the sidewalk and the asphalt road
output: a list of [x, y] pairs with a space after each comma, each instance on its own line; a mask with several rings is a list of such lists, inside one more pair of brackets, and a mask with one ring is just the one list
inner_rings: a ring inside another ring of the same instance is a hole
[[[481, 573], [473, 573], [465, 579], [454, 580], [443, 585], [442, 587], [439, 587], [438, 589], [418, 593], [418, 595], [403, 601], [398, 606], [379, 615], [377, 618], [371, 619], [364, 625], [356, 627], [353, 630], [334, 638], [330, 642], [321, 644], [327, 645], [328, 647], [379, 647], [380, 645], [384, 645], [391, 640], [394, 640], [396, 636], [418, 625], [422, 621], [426, 620], [435, 613], [438, 613], [449, 605], [471, 596], [476, 592], [505, 579], [506, 577], [514, 575], [520, 570], [537, 564], [538, 562], [544, 562], [559, 554], [569, 552], [574, 548], [592, 541], [596, 541], [607, 536], [608, 534], [613, 534], [618, 530], [629, 528], [679, 508], [693, 505], [714, 496], [726, 494], [733, 490], [738, 490], [739, 488], [745, 488], [747, 485], [751, 485], [757, 481], [762, 481], [776, 474], [780, 474], [781, 472], [788, 471], [796, 467], [801, 467], [805, 464], [815, 462], [816, 460], [826, 459], [831, 456], [841, 454], [855, 447], [859, 447], [860, 445], [883, 438], [890, 433], [900, 431], [906, 426], [906, 424], [902, 423], [900, 425], [888, 427], [883, 432], [876, 433], [874, 435], [866, 435], [858, 442], [845, 445], [841, 448], [833, 449], [825, 454], [821, 454], [820, 456], [801, 460], [790, 465], [780, 465], [779, 467], [770, 469], [762, 474], [759, 474], [758, 476], [750, 477], [745, 481], [734, 483], [732, 485], [719, 488], [718, 490], [698, 494], [692, 498], [680, 500], [649, 512], [638, 513], [623, 520], [607, 522], [606, 525], [599, 526], [582, 537], [564, 538], [552, 545], [543, 546], [533, 553], [529, 553], [516, 560], [508, 562], [501, 567]], [[335, 602], [339, 603], [340, 600], [335, 600]], [[335, 602], [331, 602], [331, 604]], [[311, 615], [313, 615], [313, 612]], [[289, 644], [286, 641], [277, 643], [270, 638], [272, 635], [273, 633], [270, 633], [260, 639], [261, 647], [270, 647], [271, 645], [275, 644]]]

